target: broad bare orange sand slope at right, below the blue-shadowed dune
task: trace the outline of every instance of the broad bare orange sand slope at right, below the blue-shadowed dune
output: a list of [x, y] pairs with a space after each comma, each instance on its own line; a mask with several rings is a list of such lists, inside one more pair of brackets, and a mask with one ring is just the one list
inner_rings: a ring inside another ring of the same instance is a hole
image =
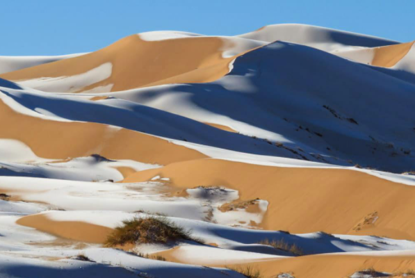
[[[240, 199], [269, 202], [261, 227], [292, 233], [325, 231], [415, 240], [415, 188], [354, 170], [267, 167], [201, 159], [131, 174], [124, 182], [168, 177], [179, 188], [226, 186]], [[378, 218], [365, 222], [371, 213]], [[361, 224], [364, 223], [364, 224]], [[359, 225], [361, 224], [361, 225]]]

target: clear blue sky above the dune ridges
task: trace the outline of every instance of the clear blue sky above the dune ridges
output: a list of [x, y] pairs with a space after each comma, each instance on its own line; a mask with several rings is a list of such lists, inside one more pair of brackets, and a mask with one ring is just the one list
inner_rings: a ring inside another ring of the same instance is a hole
[[415, 40], [415, 0], [0, 1], [0, 56], [93, 51], [145, 31], [236, 35], [279, 23]]

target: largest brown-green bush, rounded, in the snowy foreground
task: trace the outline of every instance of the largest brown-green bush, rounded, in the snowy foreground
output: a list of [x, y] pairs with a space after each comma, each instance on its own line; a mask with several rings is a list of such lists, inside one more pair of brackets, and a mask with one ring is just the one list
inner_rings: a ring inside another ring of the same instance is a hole
[[115, 228], [106, 239], [106, 247], [140, 243], [167, 243], [170, 240], [193, 240], [190, 231], [177, 226], [164, 217], [134, 218], [123, 221], [124, 226]]

